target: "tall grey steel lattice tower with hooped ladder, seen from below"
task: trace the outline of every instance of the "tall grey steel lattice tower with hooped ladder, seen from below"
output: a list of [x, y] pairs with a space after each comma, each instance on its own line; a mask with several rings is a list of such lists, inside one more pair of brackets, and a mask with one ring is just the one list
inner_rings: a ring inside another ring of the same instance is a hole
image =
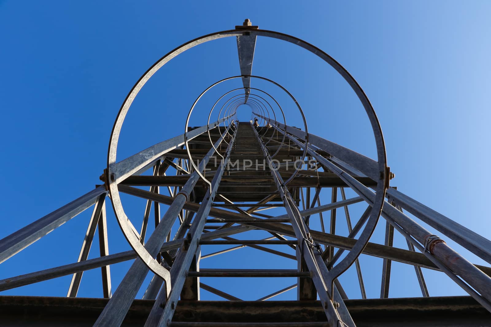
[[[117, 161], [116, 149], [121, 126], [133, 100], [148, 79], [183, 51], [204, 42], [233, 36], [237, 38], [241, 75], [227, 77], [205, 89], [191, 107], [182, 135]], [[298, 45], [319, 56], [349, 83], [369, 117], [376, 139], [377, 160], [309, 133], [302, 108], [293, 95], [273, 80], [252, 75], [257, 37], [275, 38]], [[197, 128], [189, 127], [197, 101], [215, 85], [234, 78], [242, 80], [243, 88], [232, 90], [238, 92], [235, 96], [230, 93], [232, 91], [223, 95], [210, 110], [206, 124]], [[298, 106], [303, 117], [303, 128], [288, 125], [279, 103], [265, 91], [253, 88], [252, 79], [273, 83], [286, 92]], [[217, 103], [221, 99], [228, 100], [219, 109], [218, 118], [210, 122], [212, 112], [215, 108], [218, 111]], [[237, 109], [242, 104], [251, 108], [250, 122], [237, 120]], [[274, 106], [279, 110], [275, 111]], [[234, 162], [232, 159], [239, 155], [264, 159], [264, 169], [260, 172], [247, 170], [244, 163], [230, 167]], [[287, 165], [274, 162], [275, 158], [280, 157], [288, 159]], [[195, 163], [196, 158], [199, 159], [198, 163]], [[215, 165], [212, 158], [215, 158]], [[285, 171], [285, 167], [288, 170], [288, 162], [299, 160], [301, 165], [294, 165], [293, 173]], [[302, 169], [305, 164], [313, 169]], [[169, 167], [176, 169], [176, 176], [165, 174]], [[212, 167], [211, 171], [207, 172], [207, 167]], [[319, 168], [323, 171], [319, 171]], [[148, 170], [151, 170], [151, 175], [142, 175]], [[241, 171], [243, 174], [235, 174]], [[347, 295], [338, 277], [355, 265], [361, 298], [366, 299], [358, 260], [360, 254], [366, 254], [383, 258], [381, 299], [388, 298], [391, 262], [396, 261], [414, 267], [422, 297], [428, 298], [429, 292], [421, 268], [441, 271], [485, 309], [481, 313], [485, 317], [483, 319], [491, 317], [487, 316], [488, 311], [491, 312], [491, 268], [472, 264], [417, 220], [490, 264], [491, 241], [391, 187], [389, 180], [392, 177], [386, 164], [382, 129], [370, 101], [355, 79], [337, 61], [315, 46], [293, 36], [261, 30], [246, 20], [244, 25], [236, 26], [233, 30], [208, 34], [185, 43], [167, 53], [142, 75], [121, 106], [114, 123], [109, 141], [108, 166], [101, 176], [104, 185], [0, 240], [1, 263], [93, 206], [77, 262], [0, 280], [0, 291], [72, 275], [67, 297], [74, 298], [83, 272], [101, 268], [103, 294], [109, 301], [105, 302], [94, 326], [120, 326], [134, 304], [145, 277], [151, 271], [155, 276], [147, 287], [144, 299], [155, 299], [155, 302], [145, 326], [355, 327], [355, 319], [345, 303]], [[141, 186], [149, 187], [149, 190], [139, 188]], [[162, 194], [160, 187], [167, 188], [169, 196]], [[346, 188], [353, 190], [357, 196], [347, 198]], [[265, 191], [250, 191], [255, 189]], [[321, 203], [320, 193], [324, 189], [328, 189], [331, 203]], [[146, 200], [143, 223], [139, 230], [128, 219], [120, 193]], [[338, 200], [339, 194], [341, 200]], [[106, 221], [108, 196], [132, 251], [109, 254]], [[357, 221], [352, 221], [349, 206], [363, 201], [367, 206], [365, 212]], [[159, 203], [169, 205], [163, 215]], [[147, 237], [152, 206], [155, 230]], [[284, 207], [286, 214], [272, 217], [260, 212], [271, 207]], [[344, 211], [349, 231], [347, 237], [336, 235], [337, 209]], [[410, 218], [405, 211], [417, 220]], [[330, 216], [328, 230], [325, 229], [323, 217], [323, 213], [327, 212]], [[319, 215], [322, 231], [313, 230], [309, 226], [311, 217], [315, 215]], [[384, 244], [370, 242], [379, 217], [386, 221]], [[175, 233], [171, 233], [176, 221], [180, 226]], [[88, 259], [96, 230], [99, 234], [100, 257]], [[265, 230], [271, 237], [261, 240], [238, 240], [231, 237], [251, 230]], [[408, 250], [393, 247], [395, 230], [406, 238]], [[208, 256], [251, 247], [297, 260], [298, 269], [199, 269], [201, 247], [218, 244], [233, 247]], [[296, 255], [273, 250], [267, 247], [269, 245], [288, 246], [295, 249]], [[132, 259], [136, 260], [114, 294], [111, 294], [109, 266]], [[180, 303], [199, 302], [200, 288], [233, 303], [241, 301], [201, 283], [199, 277], [297, 277], [296, 284], [258, 301], [269, 300], [297, 288], [300, 306], [308, 306], [309, 301], [319, 298], [318, 306], [324, 312], [324, 321], [317, 316], [316, 321], [305, 322], [303, 325], [299, 322], [288, 325], [287, 322], [271, 321], [206, 322], [199, 318], [194, 321], [173, 320]], [[369, 325], [361, 323], [359, 326]]]

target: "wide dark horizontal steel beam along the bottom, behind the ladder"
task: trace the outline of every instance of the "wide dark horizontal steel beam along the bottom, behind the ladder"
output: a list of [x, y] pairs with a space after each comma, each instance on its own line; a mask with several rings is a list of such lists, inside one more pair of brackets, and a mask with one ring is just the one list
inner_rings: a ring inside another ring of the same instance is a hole
[[[203, 288], [204, 289], [204, 288]], [[0, 296], [3, 326], [91, 326], [109, 299]], [[487, 326], [491, 314], [471, 297], [345, 300], [357, 326]], [[134, 300], [124, 326], [142, 326], [153, 305]], [[326, 319], [320, 301], [179, 301], [174, 322], [318, 322]]]

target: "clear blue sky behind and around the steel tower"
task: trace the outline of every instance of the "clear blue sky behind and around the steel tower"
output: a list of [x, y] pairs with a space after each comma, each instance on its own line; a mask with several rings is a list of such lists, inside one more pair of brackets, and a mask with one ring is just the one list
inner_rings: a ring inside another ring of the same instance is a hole
[[[245, 18], [260, 28], [300, 37], [338, 60], [375, 107], [388, 165], [396, 174], [392, 185], [491, 238], [491, 3], [305, 3], [0, 1], [0, 238], [100, 183], [116, 114], [149, 66], [176, 46], [231, 29]], [[373, 136], [354, 93], [314, 56], [279, 41], [258, 39], [253, 73], [285, 85], [305, 110], [312, 132], [373, 156]], [[181, 134], [197, 95], [230, 75], [239, 75], [233, 38], [196, 47], [173, 60], [135, 101], [118, 158]], [[141, 216], [143, 209], [138, 210]], [[0, 278], [76, 261], [89, 211], [2, 263]], [[109, 252], [128, 250], [111, 211], [108, 206]], [[342, 212], [338, 216], [342, 225]], [[375, 241], [381, 241], [382, 227]], [[395, 245], [405, 247], [402, 241], [397, 235]], [[95, 247], [90, 257], [96, 252]], [[255, 265], [243, 263], [250, 268], [292, 264], [271, 257], [258, 261], [254, 253], [239, 250], [223, 258], [241, 256], [241, 262]], [[360, 260], [368, 296], [378, 297], [382, 260]], [[213, 263], [218, 261], [203, 260], [202, 266], [214, 267]], [[113, 287], [129, 264], [111, 266]], [[417, 296], [412, 267], [393, 265], [390, 296]], [[464, 294], [442, 273], [424, 273], [430, 295]], [[352, 270], [341, 281], [356, 298], [354, 276]], [[65, 296], [69, 282], [70, 277], [62, 277], [0, 294]], [[241, 285], [240, 280], [226, 282]], [[254, 282], [257, 287], [238, 286], [249, 292], [246, 300], [293, 283]], [[102, 296], [100, 283], [99, 270], [85, 273], [79, 295]], [[220, 288], [230, 290], [225, 284]], [[217, 299], [205, 291], [202, 296]], [[277, 299], [294, 296], [292, 291]]]

